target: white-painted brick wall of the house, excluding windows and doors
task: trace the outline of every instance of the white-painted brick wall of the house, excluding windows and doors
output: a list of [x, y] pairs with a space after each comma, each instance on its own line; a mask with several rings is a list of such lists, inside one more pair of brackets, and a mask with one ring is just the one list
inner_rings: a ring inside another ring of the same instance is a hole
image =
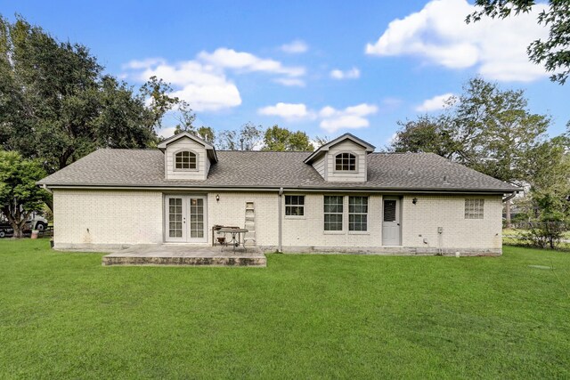
[[[187, 193], [190, 194], [190, 193]], [[287, 193], [289, 195], [302, 193]], [[216, 201], [216, 195], [220, 200]], [[163, 242], [163, 198], [159, 191], [54, 190], [55, 247], [115, 247]], [[412, 198], [418, 198], [416, 205]], [[402, 198], [402, 242], [417, 252], [438, 248], [501, 252], [500, 196], [485, 198], [485, 218], [466, 220], [465, 196], [416, 195]], [[256, 209], [258, 246], [278, 245], [277, 192], [212, 192], [208, 194], [208, 243], [214, 224], [244, 226], [246, 202]], [[348, 231], [348, 197], [344, 198], [343, 231], [324, 231], [322, 194], [305, 194], [305, 215], [285, 216], [282, 198], [282, 245], [288, 247], [333, 248], [338, 250], [382, 247], [382, 197], [369, 198], [368, 231]], [[441, 237], [437, 228], [444, 229]], [[427, 244], [424, 243], [427, 239]], [[441, 239], [441, 240], [440, 240]], [[384, 248], [387, 249], [387, 248]], [[403, 250], [395, 250], [402, 253]], [[381, 251], [381, 250], [380, 250]]]

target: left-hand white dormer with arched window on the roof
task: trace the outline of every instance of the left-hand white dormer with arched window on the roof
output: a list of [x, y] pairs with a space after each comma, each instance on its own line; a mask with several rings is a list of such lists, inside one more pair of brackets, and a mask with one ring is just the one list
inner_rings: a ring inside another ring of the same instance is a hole
[[178, 133], [159, 143], [164, 153], [167, 180], [203, 181], [217, 162], [216, 149], [208, 141], [188, 132]]

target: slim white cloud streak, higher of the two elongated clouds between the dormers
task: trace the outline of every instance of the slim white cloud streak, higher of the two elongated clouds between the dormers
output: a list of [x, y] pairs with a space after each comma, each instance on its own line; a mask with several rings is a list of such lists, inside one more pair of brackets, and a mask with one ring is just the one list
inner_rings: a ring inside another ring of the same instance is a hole
[[305, 75], [305, 68], [283, 66], [280, 61], [262, 59], [251, 53], [236, 52], [225, 47], [216, 49], [214, 53], [201, 52], [198, 54], [198, 59], [223, 69], [263, 71], [288, 77], [302, 77]]

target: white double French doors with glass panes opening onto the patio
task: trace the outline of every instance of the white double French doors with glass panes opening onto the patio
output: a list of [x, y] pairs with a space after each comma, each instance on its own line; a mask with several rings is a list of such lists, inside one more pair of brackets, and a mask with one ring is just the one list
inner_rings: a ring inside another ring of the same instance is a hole
[[165, 239], [172, 242], [204, 243], [206, 233], [206, 197], [167, 196], [165, 199]]

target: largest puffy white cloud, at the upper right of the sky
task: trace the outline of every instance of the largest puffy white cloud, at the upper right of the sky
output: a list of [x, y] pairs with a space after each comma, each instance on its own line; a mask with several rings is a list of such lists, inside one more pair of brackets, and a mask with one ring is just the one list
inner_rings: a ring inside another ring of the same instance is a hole
[[493, 80], [533, 81], [548, 75], [526, 55], [528, 44], [548, 36], [536, 22], [547, 7], [537, 4], [517, 17], [466, 24], [475, 6], [466, 0], [432, 0], [421, 11], [390, 22], [376, 43], [366, 45], [366, 53], [415, 55], [450, 69], [476, 67]]

